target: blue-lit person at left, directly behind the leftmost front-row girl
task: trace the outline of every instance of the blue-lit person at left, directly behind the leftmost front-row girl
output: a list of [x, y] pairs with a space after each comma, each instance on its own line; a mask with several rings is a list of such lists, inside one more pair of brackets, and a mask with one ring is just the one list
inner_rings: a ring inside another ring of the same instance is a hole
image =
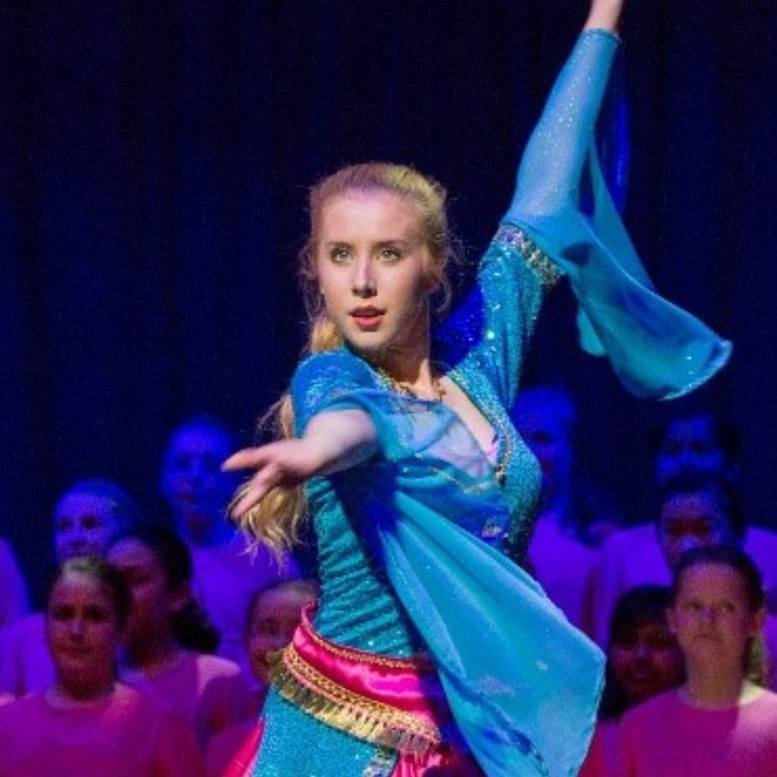
[[[54, 503], [57, 566], [79, 556], [104, 556], [111, 538], [139, 520], [124, 488], [111, 480], [79, 480]], [[54, 664], [45, 636], [45, 618], [34, 612], [5, 632], [0, 655], [0, 690], [22, 696], [54, 682]]]

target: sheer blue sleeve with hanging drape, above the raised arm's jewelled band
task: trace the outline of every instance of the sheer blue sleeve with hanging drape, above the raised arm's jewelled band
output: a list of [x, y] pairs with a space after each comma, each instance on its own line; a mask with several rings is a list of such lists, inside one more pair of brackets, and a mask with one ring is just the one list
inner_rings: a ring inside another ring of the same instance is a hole
[[653, 290], [608, 193], [594, 127], [616, 48], [603, 30], [580, 36], [524, 152], [504, 224], [570, 277], [585, 350], [606, 355], [632, 393], [671, 399], [714, 375], [730, 343]]

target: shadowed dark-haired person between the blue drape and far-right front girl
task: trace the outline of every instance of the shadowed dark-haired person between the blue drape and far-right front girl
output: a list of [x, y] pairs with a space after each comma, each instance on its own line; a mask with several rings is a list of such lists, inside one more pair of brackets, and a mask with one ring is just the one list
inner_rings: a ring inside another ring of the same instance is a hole
[[623, 714], [685, 678], [683, 657], [667, 623], [666, 586], [632, 588], [618, 600], [610, 624], [605, 691], [591, 750], [580, 777], [614, 777]]

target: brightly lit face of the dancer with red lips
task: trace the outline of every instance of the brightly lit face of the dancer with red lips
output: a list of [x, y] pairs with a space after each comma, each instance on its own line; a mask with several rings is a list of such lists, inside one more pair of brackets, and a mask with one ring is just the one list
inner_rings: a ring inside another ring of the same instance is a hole
[[326, 311], [354, 350], [380, 363], [428, 348], [434, 284], [412, 200], [382, 190], [333, 197], [315, 258]]

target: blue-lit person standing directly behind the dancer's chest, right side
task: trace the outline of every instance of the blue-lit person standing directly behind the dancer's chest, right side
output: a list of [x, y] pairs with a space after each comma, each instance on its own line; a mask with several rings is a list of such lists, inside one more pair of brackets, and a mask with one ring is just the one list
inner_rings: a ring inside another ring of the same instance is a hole
[[564, 389], [524, 389], [510, 416], [542, 471], [530, 571], [570, 622], [580, 626], [584, 582], [598, 559], [598, 546], [620, 519], [581, 470], [573, 444], [576, 413]]

